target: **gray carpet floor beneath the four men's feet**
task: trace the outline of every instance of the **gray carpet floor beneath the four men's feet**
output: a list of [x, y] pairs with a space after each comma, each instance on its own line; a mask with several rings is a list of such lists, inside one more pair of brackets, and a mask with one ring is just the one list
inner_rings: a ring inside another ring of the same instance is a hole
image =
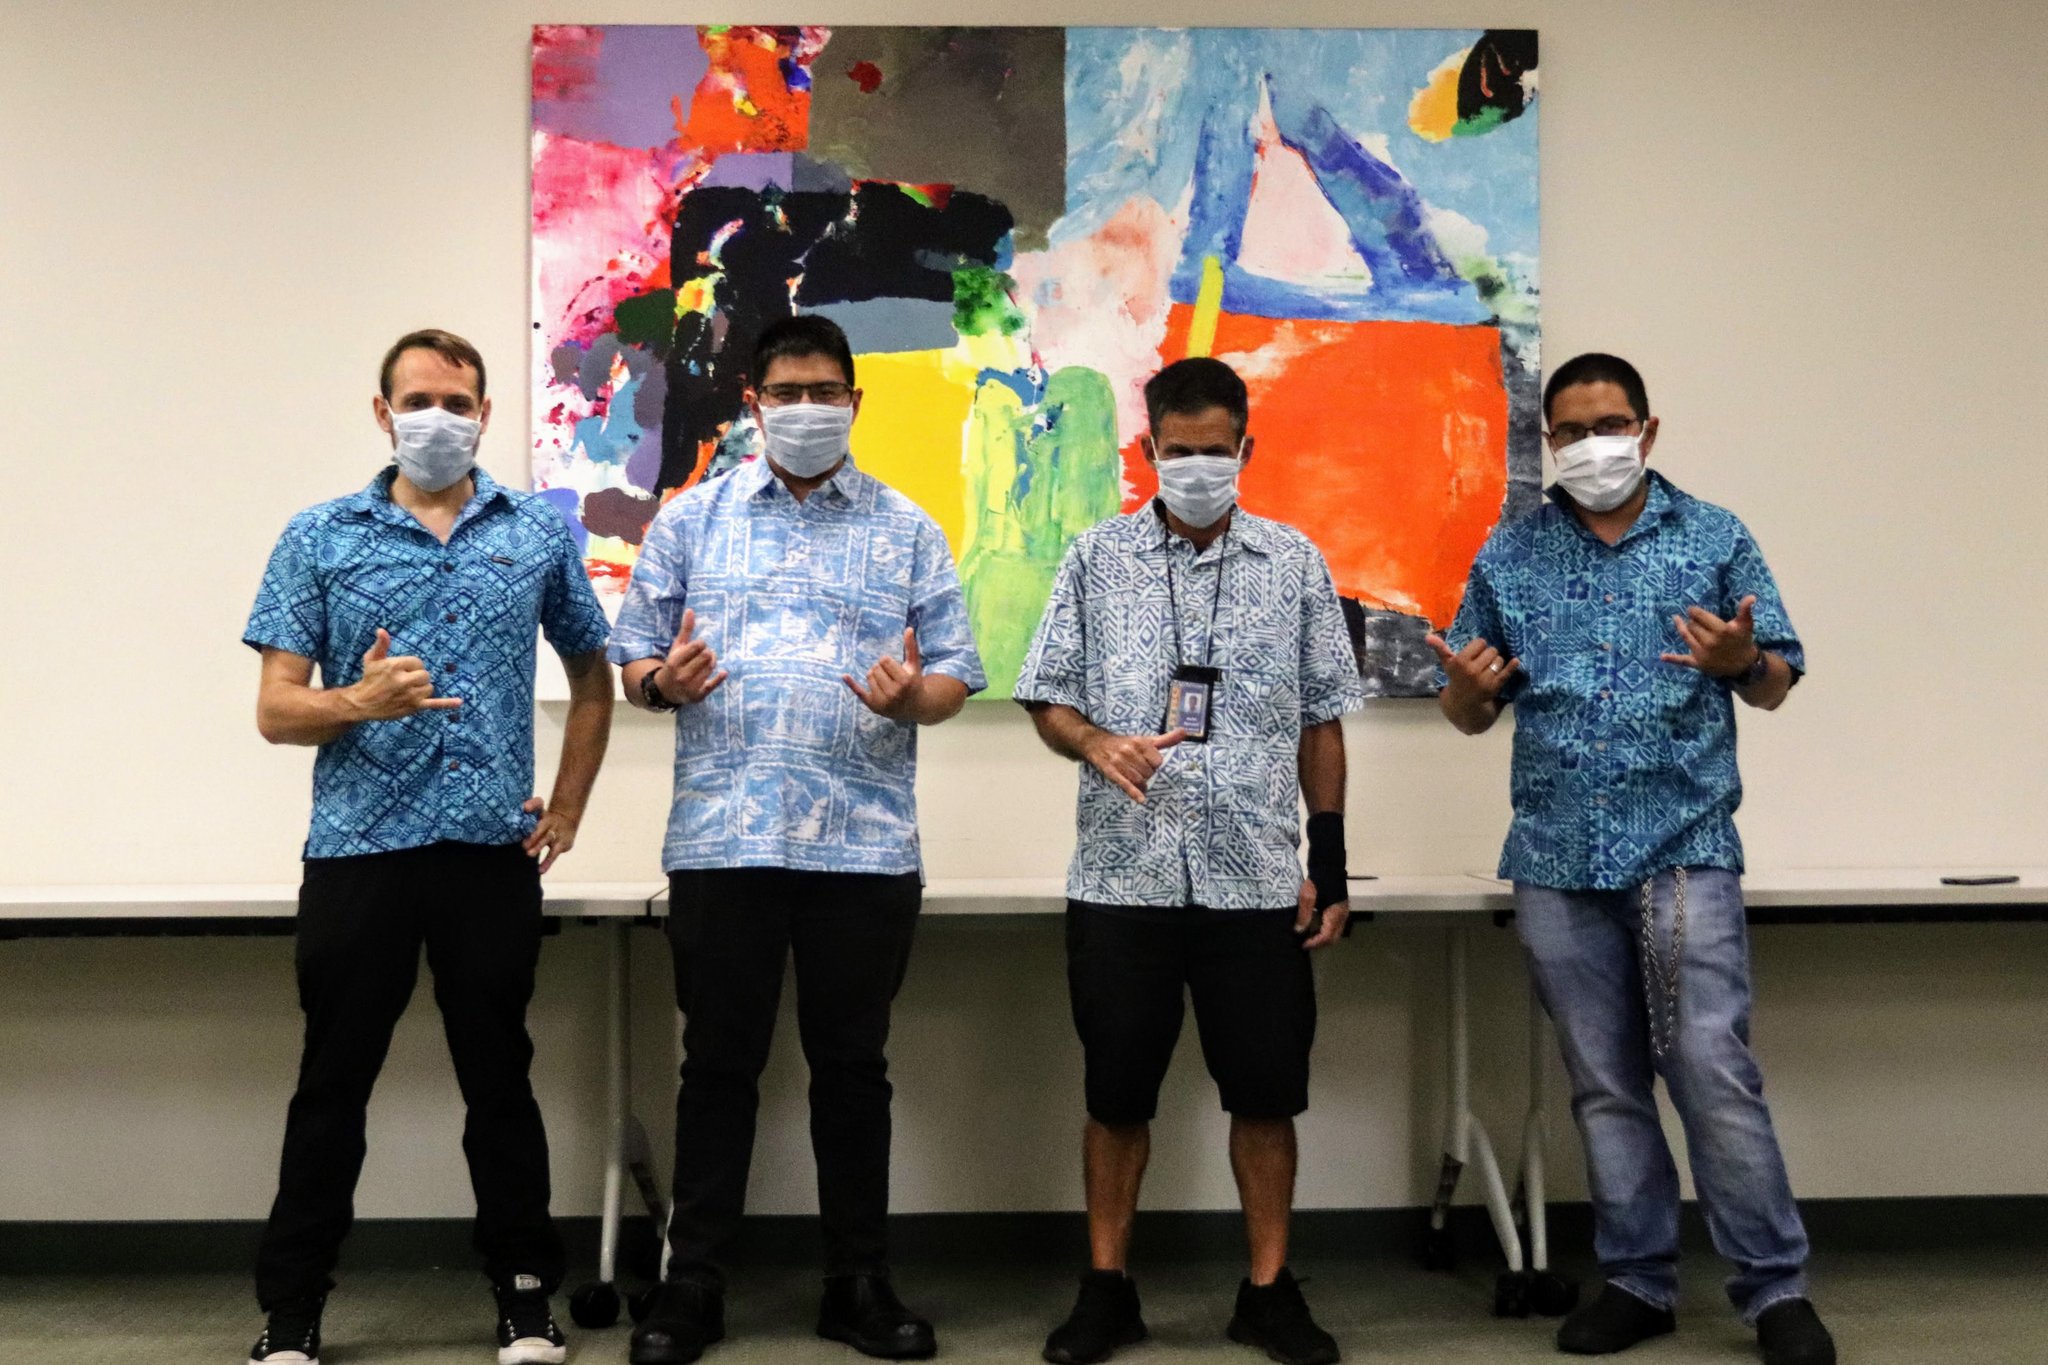
[[[1473, 1267], [1430, 1275], [1397, 1257], [1325, 1259], [1296, 1267], [1309, 1302], [1348, 1361], [1450, 1365], [1550, 1361], [1552, 1324], [1489, 1316], [1493, 1275]], [[1176, 1263], [1139, 1269], [1153, 1338], [1118, 1353], [1130, 1365], [1251, 1365], [1223, 1338], [1237, 1267]], [[1696, 1259], [1677, 1336], [1640, 1347], [1640, 1365], [1741, 1365], [1753, 1336], [1726, 1310], [1718, 1267]], [[940, 1328], [940, 1359], [1034, 1361], [1073, 1291], [1067, 1265], [905, 1265], [897, 1283]], [[1817, 1302], [1843, 1365], [2048, 1363], [2048, 1252], [1853, 1252], [1817, 1265]], [[815, 1279], [803, 1267], [754, 1267], [735, 1277], [729, 1340], [707, 1365], [858, 1361], [811, 1336]], [[571, 1361], [625, 1361], [627, 1326], [569, 1332]], [[51, 1275], [0, 1279], [0, 1363], [236, 1365], [260, 1330], [238, 1275]], [[330, 1365], [487, 1365], [492, 1306], [469, 1271], [356, 1273], [328, 1308]]]

